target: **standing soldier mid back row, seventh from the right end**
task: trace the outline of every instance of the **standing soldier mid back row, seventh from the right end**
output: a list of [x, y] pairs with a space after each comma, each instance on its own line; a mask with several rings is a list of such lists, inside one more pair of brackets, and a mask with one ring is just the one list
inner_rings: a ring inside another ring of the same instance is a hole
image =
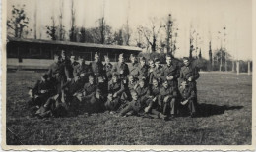
[[128, 65], [124, 62], [123, 54], [119, 55], [118, 62], [114, 65], [112, 72], [120, 76], [121, 79], [126, 80], [130, 72]]

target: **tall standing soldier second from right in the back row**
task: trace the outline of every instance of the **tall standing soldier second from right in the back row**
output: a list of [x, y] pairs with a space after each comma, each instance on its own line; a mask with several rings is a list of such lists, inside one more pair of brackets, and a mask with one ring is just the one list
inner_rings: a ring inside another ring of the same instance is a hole
[[161, 79], [166, 79], [169, 85], [178, 88], [178, 77], [179, 77], [179, 67], [172, 62], [173, 57], [169, 54], [166, 55], [166, 63], [161, 70]]

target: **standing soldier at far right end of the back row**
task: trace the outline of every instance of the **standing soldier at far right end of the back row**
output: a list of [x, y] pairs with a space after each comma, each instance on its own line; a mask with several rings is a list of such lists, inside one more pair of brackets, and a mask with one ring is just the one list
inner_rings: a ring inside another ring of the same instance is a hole
[[183, 58], [183, 63], [184, 66], [180, 70], [180, 82], [187, 81], [188, 85], [194, 89], [197, 96], [196, 80], [199, 78], [198, 68], [193, 66], [187, 57]]

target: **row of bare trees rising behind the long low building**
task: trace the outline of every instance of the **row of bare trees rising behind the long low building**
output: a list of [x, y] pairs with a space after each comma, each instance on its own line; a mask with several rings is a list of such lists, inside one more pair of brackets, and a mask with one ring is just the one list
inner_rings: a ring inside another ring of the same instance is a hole
[[[84, 26], [75, 25], [76, 9], [74, 1], [71, 1], [71, 25], [67, 29], [63, 25], [63, 4], [61, 1], [60, 13], [58, 18], [53, 16], [50, 18], [51, 25], [46, 25], [46, 34], [51, 40], [67, 40], [72, 42], [89, 42], [98, 44], [116, 44], [116, 45], [131, 45], [131, 37], [133, 37], [133, 44], [141, 48], [146, 48], [152, 52], [157, 50], [174, 54], [176, 48], [177, 25], [174, 24], [172, 16], [169, 14], [163, 20], [158, 18], [151, 18], [150, 25], [139, 25], [135, 31], [129, 27], [129, 22], [125, 23], [120, 29], [114, 30], [107, 24], [104, 16], [96, 20], [96, 26], [85, 28]], [[36, 39], [36, 20], [32, 29], [29, 29], [30, 19], [25, 12], [25, 5], [13, 6], [12, 18], [7, 21], [8, 35], [22, 38], [28, 32], [34, 32]], [[36, 14], [34, 14], [36, 18]], [[29, 29], [29, 30], [28, 30]], [[162, 38], [163, 37], [163, 38]]]

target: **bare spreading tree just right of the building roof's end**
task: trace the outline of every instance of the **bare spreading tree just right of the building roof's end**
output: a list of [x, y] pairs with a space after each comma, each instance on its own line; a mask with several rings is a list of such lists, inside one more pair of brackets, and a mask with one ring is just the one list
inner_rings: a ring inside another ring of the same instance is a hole
[[157, 49], [157, 39], [160, 33], [160, 29], [163, 27], [162, 25], [156, 25], [157, 19], [151, 19], [150, 28], [139, 26], [137, 29], [142, 35], [145, 37], [147, 43], [151, 46], [152, 52], [156, 52]]

